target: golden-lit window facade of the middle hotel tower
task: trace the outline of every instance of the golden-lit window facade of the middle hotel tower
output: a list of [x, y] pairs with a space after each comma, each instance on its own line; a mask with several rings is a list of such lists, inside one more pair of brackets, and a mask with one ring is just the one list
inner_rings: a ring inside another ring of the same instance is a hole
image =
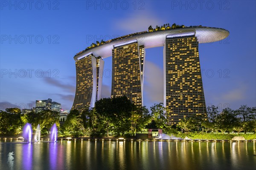
[[112, 50], [112, 98], [125, 95], [135, 105], [142, 106], [143, 57], [144, 47], [138, 48], [137, 43]]

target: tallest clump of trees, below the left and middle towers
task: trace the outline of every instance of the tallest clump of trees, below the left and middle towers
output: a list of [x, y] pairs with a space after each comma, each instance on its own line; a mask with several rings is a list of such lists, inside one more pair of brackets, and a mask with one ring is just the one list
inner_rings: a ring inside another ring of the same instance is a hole
[[95, 107], [79, 113], [71, 110], [63, 127], [63, 135], [73, 136], [134, 136], [145, 128], [164, 128], [167, 123], [163, 104], [154, 104], [151, 114], [136, 107], [127, 97], [102, 98]]

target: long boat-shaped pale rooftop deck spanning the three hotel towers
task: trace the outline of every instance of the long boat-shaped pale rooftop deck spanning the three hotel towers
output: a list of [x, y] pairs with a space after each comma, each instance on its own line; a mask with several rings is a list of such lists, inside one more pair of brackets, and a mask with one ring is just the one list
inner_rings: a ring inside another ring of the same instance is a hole
[[108, 40], [104, 44], [84, 50], [75, 55], [75, 61], [93, 54], [107, 58], [112, 56], [112, 49], [117, 46], [137, 42], [139, 46], [144, 45], [145, 49], [164, 46], [166, 37], [184, 37], [195, 35], [198, 43], [212, 43], [225, 39], [229, 32], [225, 29], [211, 27], [186, 27], [178, 29], [159, 30], [154, 32], [139, 32], [133, 35], [122, 36], [113, 40]]

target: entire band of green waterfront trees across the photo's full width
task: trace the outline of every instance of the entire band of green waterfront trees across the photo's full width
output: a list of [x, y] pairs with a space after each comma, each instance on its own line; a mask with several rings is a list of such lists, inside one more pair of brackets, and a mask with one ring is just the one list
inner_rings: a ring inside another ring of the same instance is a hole
[[102, 98], [96, 101], [95, 107], [70, 111], [67, 120], [59, 123], [59, 113], [44, 110], [39, 113], [21, 114], [18, 108], [0, 110], [0, 134], [15, 135], [22, 133], [27, 122], [32, 124], [33, 131], [38, 124], [41, 134], [47, 135], [52, 124], [56, 123], [60, 136], [134, 136], [146, 129], [163, 129], [164, 133], [189, 132], [256, 132], [256, 107], [242, 105], [239, 109], [225, 108], [220, 112], [218, 107], [207, 107], [207, 114], [183, 118], [177, 125], [167, 125], [163, 103], [154, 104], [149, 110], [137, 107], [127, 97]]

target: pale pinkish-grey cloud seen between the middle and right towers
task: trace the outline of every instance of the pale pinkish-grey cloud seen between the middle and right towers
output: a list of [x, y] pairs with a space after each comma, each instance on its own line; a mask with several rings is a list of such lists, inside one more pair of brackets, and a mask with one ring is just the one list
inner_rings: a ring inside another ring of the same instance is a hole
[[154, 103], [163, 102], [163, 70], [156, 64], [145, 62], [144, 98]]

